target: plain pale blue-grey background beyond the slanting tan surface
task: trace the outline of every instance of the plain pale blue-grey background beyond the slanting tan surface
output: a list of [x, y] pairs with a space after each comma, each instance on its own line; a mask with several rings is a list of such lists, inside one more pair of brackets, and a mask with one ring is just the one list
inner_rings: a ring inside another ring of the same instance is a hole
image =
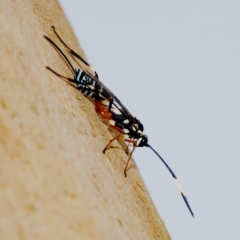
[[240, 239], [240, 2], [60, 3], [100, 80], [186, 192], [195, 219], [157, 156], [135, 151], [171, 237]]

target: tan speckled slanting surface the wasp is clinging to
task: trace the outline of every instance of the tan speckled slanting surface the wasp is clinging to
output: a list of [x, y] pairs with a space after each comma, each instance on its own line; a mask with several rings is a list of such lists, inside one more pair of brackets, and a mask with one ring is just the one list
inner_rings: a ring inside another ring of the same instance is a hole
[[46, 70], [71, 76], [51, 25], [83, 55], [56, 0], [0, 3], [0, 239], [170, 239], [92, 102]]

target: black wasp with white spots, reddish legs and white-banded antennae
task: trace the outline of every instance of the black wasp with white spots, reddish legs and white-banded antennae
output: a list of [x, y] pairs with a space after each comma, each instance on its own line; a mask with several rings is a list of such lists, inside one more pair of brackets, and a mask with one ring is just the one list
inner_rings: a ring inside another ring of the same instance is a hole
[[[88, 71], [86, 68], [75, 69], [67, 56], [63, 51], [47, 36], [44, 38], [59, 52], [59, 54], [66, 61], [67, 65], [72, 71], [73, 77], [65, 77], [50, 67], [46, 67], [48, 70], [53, 72], [58, 77], [67, 80], [69, 83], [75, 84], [76, 88], [83, 93], [85, 96], [91, 98], [94, 102], [96, 112], [105, 120], [107, 120], [108, 125], [117, 130], [119, 134], [109, 141], [106, 147], [103, 149], [103, 153], [109, 148], [111, 143], [117, 140], [119, 137], [123, 136], [124, 140], [128, 143], [128, 146], [132, 146], [132, 150], [129, 153], [128, 160], [124, 168], [124, 175], [127, 177], [127, 168], [131, 160], [131, 156], [137, 147], [149, 147], [163, 162], [165, 167], [168, 169], [173, 179], [179, 188], [179, 191], [183, 197], [183, 200], [190, 211], [191, 215], [194, 217], [194, 213], [188, 203], [187, 197], [184, 194], [183, 188], [177, 179], [169, 165], [160, 156], [160, 154], [148, 143], [148, 137], [143, 133], [144, 127], [142, 123], [134, 117], [128, 109], [122, 104], [122, 102], [99, 80], [97, 72], [90, 66], [90, 64], [84, 60], [79, 54], [73, 51], [68, 45], [62, 40], [62, 38], [57, 33], [54, 26], [52, 26], [53, 32], [63, 44], [66, 50], [76, 59], [80, 60], [87, 68], [91, 69]], [[127, 150], [128, 150], [127, 146]], [[126, 150], [126, 152], [127, 152]]]

